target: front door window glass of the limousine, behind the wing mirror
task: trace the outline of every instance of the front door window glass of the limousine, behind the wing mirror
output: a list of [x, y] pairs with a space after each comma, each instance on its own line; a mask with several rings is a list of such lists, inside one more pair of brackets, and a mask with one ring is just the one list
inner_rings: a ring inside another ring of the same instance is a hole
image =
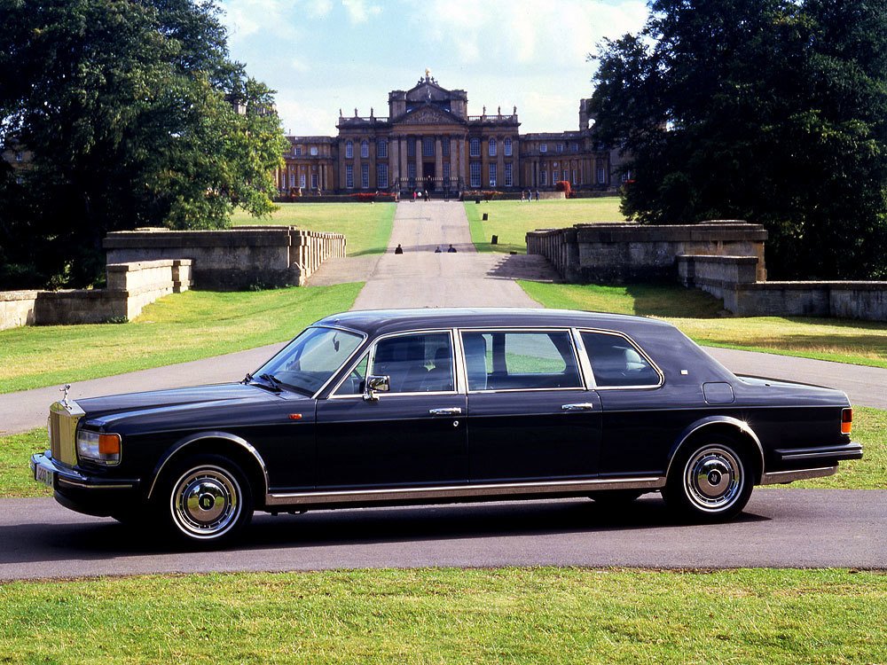
[[392, 393], [455, 390], [449, 332], [424, 332], [381, 340], [373, 356], [373, 374], [391, 379]]

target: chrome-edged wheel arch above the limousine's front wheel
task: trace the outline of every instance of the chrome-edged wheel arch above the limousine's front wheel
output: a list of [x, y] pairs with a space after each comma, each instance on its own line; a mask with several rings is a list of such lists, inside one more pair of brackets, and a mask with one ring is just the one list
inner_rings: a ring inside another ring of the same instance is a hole
[[[219, 445], [220, 443], [221, 445]], [[185, 455], [199, 455], [200, 453], [227, 456], [239, 464], [243, 473], [247, 474], [247, 481], [255, 488], [255, 505], [264, 505], [269, 488], [268, 468], [259, 451], [255, 450], [251, 443], [237, 434], [228, 432], [189, 434], [174, 443], [154, 466], [146, 499], [150, 501], [154, 497], [154, 492], [163, 473], [169, 470], [177, 459], [183, 458]]]

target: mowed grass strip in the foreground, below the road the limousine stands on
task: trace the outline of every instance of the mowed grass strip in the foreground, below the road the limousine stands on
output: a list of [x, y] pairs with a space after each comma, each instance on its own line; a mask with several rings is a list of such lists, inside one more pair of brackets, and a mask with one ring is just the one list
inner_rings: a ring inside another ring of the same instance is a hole
[[0, 586], [9, 663], [887, 661], [887, 575], [502, 568]]

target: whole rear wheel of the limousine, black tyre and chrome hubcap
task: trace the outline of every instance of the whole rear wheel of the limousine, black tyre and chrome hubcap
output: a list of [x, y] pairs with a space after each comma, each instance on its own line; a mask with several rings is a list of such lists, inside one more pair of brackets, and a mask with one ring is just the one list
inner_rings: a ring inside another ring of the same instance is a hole
[[663, 497], [680, 517], [729, 520], [749, 502], [754, 481], [747, 458], [729, 440], [710, 440], [679, 451]]

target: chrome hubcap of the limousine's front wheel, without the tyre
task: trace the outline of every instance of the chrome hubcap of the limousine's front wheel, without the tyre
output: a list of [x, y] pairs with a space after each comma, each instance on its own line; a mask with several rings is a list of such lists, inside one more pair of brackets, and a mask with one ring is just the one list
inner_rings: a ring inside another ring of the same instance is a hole
[[217, 466], [184, 473], [172, 495], [176, 524], [189, 536], [213, 538], [232, 527], [240, 514], [240, 487]]

